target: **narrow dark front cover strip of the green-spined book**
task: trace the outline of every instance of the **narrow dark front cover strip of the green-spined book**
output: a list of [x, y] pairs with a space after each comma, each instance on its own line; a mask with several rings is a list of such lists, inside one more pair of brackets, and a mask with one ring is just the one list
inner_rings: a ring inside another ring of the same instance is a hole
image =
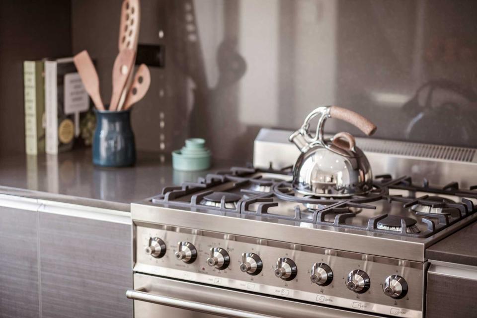
[[36, 143], [38, 154], [45, 153], [45, 64], [35, 62]]

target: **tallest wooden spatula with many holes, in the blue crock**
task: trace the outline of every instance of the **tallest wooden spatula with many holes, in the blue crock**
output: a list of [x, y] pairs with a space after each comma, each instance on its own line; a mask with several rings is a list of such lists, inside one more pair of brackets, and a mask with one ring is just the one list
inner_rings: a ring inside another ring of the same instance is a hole
[[[141, 23], [141, 6], [139, 0], [124, 0], [121, 6], [121, 23], [119, 26], [119, 52], [124, 49], [138, 50], [139, 26]], [[118, 110], [123, 108], [126, 95], [133, 81], [131, 72], [119, 98]]]

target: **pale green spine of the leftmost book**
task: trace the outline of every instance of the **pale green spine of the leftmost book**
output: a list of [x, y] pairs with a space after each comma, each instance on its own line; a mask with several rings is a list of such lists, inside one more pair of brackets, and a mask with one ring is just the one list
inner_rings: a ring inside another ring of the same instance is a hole
[[23, 62], [23, 87], [25, 98], [25, 151], [37, 155], [35, 61]]

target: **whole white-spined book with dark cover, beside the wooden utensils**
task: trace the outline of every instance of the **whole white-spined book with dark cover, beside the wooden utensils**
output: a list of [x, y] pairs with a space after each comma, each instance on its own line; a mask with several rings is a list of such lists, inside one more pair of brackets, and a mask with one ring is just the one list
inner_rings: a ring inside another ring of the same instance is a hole
[[45, 61], [45, 109], [47, 154], [72, 149], [80, 133], [80, 114], [89, 110], [73, 58]]

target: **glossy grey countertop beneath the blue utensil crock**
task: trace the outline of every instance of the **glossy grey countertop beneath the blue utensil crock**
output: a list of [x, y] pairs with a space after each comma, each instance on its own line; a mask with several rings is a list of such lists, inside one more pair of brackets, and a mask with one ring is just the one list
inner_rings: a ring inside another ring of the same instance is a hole
[[58, 156], [2, 156], [0, 193], [130, 211], [131, 202], [159, 194], [164, 186], [196, 181], [210, 172], [245, 165], [220, 160], [206, 171], [175, 171], [170, 161], [161, 163], [160, 156], [139, 152], [136, 165], [124, 168], [94, 166], [90, 149]]

